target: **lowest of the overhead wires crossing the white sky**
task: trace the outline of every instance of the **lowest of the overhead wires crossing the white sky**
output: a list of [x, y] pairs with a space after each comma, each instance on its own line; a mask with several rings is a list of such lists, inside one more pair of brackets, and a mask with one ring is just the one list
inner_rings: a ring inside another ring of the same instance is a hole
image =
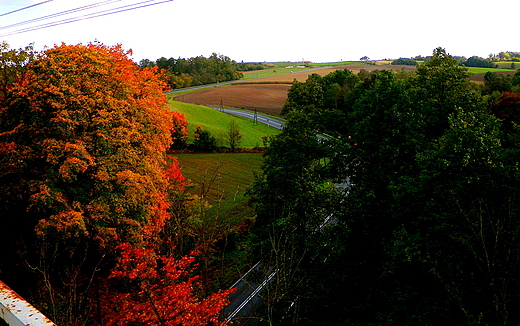
[[[108, 0], [108, 1], [121, 1], [121, 0]], [[0, 34], [0, 37], [6, 37], [6, 36], [11, 36], [11, 35], [15, 35], [15, 34], [21, 34], [21, 33], [27, 33], [27, 32], [32, 32], [32, 31], [35, 31], [35, 30], [44, 29], [44, 28], [49, 28], [49, 27], [54, 27], [54, 26], [74, 23], [74, 22], [81, 21], [81, 20], [87, 20], [87, 19], [92, 19], [92, 18], [97, 18], [97, 17], [103, 17], [103, 16], [108, 16], [108, 15], [112, 15], [112, 14], [125, 12], [125, 11], [134, 10], [134, 9], [140, 9], [140, 8], [144, 8], [144, 7], [155, 6], [155, 5], [158, 5], [158, 4], [161, 4], [161, 3], [171, 2], [173, 0], [163, 0], [163, 1], [159, 1], [159, 2], [149, 3], [149, 2], [153, 2], [153, 1], [156, 1], [156, 0], [142, 1], [142, 2], [131, 4], [131, 5], [116, 7], [116, 8], [112, 8], [112, 9], [108, 9], [108, 10], [102, 10], [102, 11], [98, 11], [98, 12], [94, 12], [94, 13], [90, 13], [90, 14], [86, 14], [86, 15], [81, 15], [81, 16], [76, 16], [76, 17], [72, 17], [72, 18], [67, 18], [67, 19], [54, 21], [54, 22], [50, 22], [50, 23], [45, 23], [45, 24], [41, 24], [41, 25], [37, 25], [37, 26], [27, 27], [27, 28], [15, 30], [15, 31], [12, 31], [12, 32], [7, 32], [7, 33], [4, 33], [4, 34]], [[78, 8], [76, 8], [76, 9], [78, 9]], [[90, 8], [88, 8], [88, 9], [90, 9]], [[86, 10], [86, 9], [82, 9], [82, 10]], [[40, 17], [40, 18], [42, 18], [42, 17]], [[2, 29], [2, 28], [0, 28], [0, 29]]]

